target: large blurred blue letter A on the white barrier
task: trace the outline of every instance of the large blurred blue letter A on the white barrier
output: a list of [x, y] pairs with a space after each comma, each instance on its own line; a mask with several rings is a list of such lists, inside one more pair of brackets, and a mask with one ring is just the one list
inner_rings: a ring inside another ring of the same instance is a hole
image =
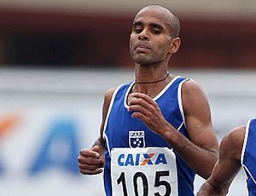
[[77, 133], [77, 124], [73, 119], [55, 119], [50, 124], [49, 133], [34, 159], [30, 174], [36, 175], [50, 167], [79, 174], [76, 161], [79, 152]]

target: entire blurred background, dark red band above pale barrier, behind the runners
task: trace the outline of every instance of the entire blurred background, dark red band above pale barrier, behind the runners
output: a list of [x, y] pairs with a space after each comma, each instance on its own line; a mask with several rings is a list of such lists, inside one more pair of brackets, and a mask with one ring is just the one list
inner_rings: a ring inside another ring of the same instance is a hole
[[[218, 140], [256, 117], [253, 0], [0, 0], [1, 195], [104, 195], [77, 157], [99, 134], [104, 93], [133, 79], [131, 22], [151, 3], [180, 19], [170, 72], [201, 84]], [[245, 181], [241, 170], [229, 195], [247, 195]]]

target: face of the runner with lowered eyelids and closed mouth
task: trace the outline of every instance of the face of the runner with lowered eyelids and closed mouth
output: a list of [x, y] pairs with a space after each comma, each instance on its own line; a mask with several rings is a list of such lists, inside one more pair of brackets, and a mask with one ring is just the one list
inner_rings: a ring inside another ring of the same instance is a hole
[[130, 52], [133, 61], [145, 66], [166, 59], [172, 45], [172, 26], [168, 16], [155, 10], [142, 10], [135, 17]]

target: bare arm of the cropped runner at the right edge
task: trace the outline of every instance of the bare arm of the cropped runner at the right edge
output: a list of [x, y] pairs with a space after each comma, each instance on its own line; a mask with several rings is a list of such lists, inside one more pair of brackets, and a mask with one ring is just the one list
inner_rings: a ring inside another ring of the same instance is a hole
[[218, 162], [197, 195], [222, 196], [228, 193], [231, 182], [241, 169], [241, 149], [245, 130], [245, 126], [237, 127], [224, 136], [220, 144]]

